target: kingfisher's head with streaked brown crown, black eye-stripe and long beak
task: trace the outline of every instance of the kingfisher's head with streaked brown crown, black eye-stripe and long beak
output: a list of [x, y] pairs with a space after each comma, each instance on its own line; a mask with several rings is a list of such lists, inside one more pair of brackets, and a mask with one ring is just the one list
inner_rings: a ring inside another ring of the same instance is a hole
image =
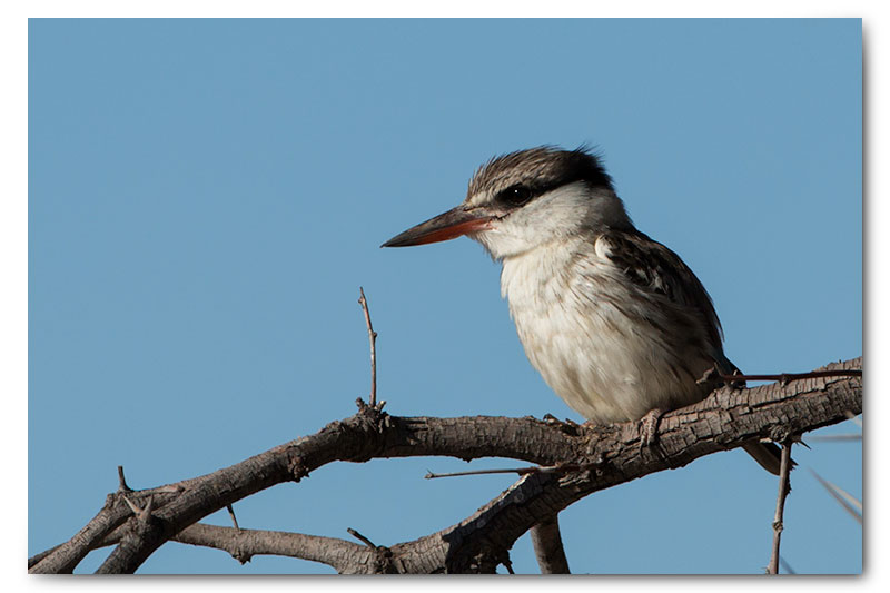
[[466, 199], [383, 247], [479, 241], [495, 259], [605, 228], [631, 228], [600, 159], [585, 148], [545, 146], [496, 157], [469, 180]]

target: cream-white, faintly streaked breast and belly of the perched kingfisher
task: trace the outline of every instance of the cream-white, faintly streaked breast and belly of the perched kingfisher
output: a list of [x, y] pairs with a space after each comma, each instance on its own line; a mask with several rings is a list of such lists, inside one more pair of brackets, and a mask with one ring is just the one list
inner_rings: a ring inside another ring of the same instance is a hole
[[532, 365], [596, 423], [701, 399], [695, 377], [708, 360], [673, 352], [670, 336], [635, 314], [634, 288], [594, 245], [556, 241], [503, 259], [501, 293]]

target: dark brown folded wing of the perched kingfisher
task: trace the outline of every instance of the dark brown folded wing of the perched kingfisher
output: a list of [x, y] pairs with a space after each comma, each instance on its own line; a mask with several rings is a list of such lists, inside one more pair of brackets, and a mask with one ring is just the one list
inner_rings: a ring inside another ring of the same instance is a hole
[[[708, 326], [708, 337], [722, 355], [723, 333], [714, 305], [702, 283], [680, 256], [636, 230], [610, 230], [602, 234], [596, 239], [596, 251], [609, 258], [643, 294], [655, 300], [666, 299], [701, 316]], [[718, 362], [721, 366], [729, 363]]]

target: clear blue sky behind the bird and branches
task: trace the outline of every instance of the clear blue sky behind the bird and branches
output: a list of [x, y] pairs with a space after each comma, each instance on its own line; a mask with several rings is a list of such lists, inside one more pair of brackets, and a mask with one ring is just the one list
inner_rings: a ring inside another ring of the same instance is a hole
[[[119, 464], [150, 487], [353, 414], [359, 286], [392, 414], [581, 419], [525, 359], [478, 245], [378, 249], [505, 151], [599, 147], [636, 225], [708, 287], [743, 370], [862, 353], [859, 20], [41, 20], [28, 43], [29, 553], [81, 527]], [[861, 446], [811, 446], [783, 556], [859, 572], [861, 528], [807, 468], [861, 497]], [[236, 511], [394, 544], [513, 481], [427, 468], [466, 464], [326, 466]], [[592, 495], [561, 515], [570, 565], [762, 572], [775, 491], [730, 452]], [[537, 572], [527, 537], [512, 556]], [[141, 572], [330, 570], [168, 544]]]

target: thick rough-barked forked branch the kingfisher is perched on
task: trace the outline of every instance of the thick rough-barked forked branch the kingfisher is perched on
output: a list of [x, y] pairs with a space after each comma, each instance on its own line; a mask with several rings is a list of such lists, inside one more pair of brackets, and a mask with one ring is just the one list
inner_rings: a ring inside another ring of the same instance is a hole
[[[861, 358], [827, 368], [861, 368]], [[334, 461], [447, 455], [512, 457], [542, 465], [599, 462], [595, 470], [562, 476], [524, 476], [459, 524], [389, 548], [387, 570], [396, 572], [494, 572], [520, 535], [592, 492], [752, 439], [781, 442], [861, 409], [860, 377], [724, 387], [699, 404], [666, 414], [657, 446], [641, 453], [636, 423], [580, 428], [528, 417], [402, 418], [362, 404], [349, 418], [239, 464], [177, 485], [127, 493], [140, 508], [152, 497], [155, 510], [148, 520], [134, 517], [119, 495], [109, 495], [99, 515], [34, 564], [32, 572], [70, 572], [125, 522], [128, 535], [100, 572], [134, 572], [159, 545], [201, 517], [274, 484], [299, 481]], [[365, 572], [352, 565], [338, 570]]]

